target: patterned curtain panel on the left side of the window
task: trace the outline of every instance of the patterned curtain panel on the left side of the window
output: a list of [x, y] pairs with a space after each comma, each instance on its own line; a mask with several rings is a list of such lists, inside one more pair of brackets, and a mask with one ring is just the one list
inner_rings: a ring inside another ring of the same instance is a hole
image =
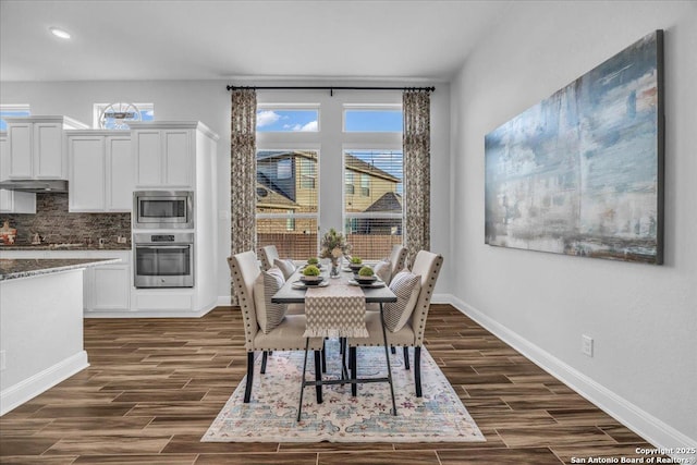
[[[230, 121], [231, 255], [256, 252], [256, 125], [255, 89], [232, 90]], [[231, 305], [237, 305], [234, 286]]]

